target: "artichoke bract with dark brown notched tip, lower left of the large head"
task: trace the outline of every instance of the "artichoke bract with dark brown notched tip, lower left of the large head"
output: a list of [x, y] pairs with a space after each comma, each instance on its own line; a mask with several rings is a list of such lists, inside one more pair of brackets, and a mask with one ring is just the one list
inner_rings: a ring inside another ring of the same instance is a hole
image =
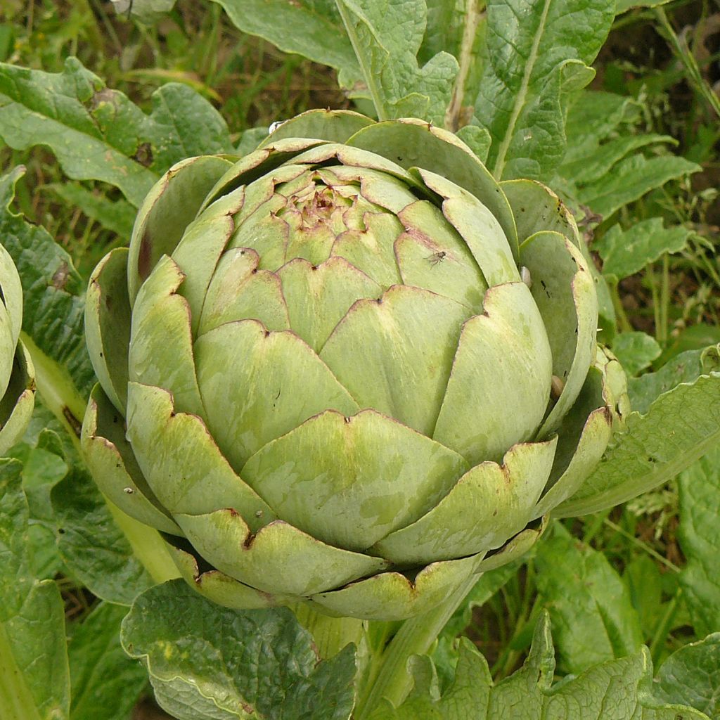
[[327, 545], [282, 520], [253, 534], [231, 509], [176, 519], [213, 567], [266, 593], [300, 599], [387, 568], [382, 558]]

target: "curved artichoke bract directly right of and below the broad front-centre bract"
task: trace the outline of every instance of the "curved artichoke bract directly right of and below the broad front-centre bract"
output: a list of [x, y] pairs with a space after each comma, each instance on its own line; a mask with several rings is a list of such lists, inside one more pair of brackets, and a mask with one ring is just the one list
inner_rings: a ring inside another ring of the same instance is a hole
[[502, 545], [534, 519], [556, 444], [557, 438], [518, 444], [505, 453], [502, 465], [476, 465], [429, 513], [382, 539], [369, 552], [412, 566]]

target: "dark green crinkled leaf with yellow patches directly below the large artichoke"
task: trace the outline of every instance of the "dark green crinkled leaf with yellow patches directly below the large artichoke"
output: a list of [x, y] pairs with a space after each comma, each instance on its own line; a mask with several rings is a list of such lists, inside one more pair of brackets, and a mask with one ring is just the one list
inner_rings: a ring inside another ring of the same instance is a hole
[[287, 608], [233, 611], [184, 581], [148, 590], [122, 624], [122, 644], [143, 660], [158, 702], [181, 720], [347, 720], [351, 646], [320, 660]]

